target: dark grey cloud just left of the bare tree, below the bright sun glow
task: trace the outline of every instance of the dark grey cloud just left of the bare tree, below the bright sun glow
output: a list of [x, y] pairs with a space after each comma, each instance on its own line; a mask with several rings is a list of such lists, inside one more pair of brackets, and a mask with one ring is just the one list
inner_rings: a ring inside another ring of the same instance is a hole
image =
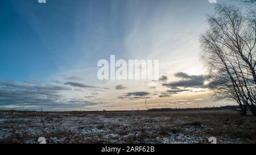
[[166, 87], [198, 87], [198, 88], [206, 88], [208, 85], [204, 85], [204, 82], [209, 79], [209, 76], [195, 76], [188, 75], [187, 73], [176, 73], [175, 77], [181, 78], [179, 81], [163, 83], [163, 86]]

